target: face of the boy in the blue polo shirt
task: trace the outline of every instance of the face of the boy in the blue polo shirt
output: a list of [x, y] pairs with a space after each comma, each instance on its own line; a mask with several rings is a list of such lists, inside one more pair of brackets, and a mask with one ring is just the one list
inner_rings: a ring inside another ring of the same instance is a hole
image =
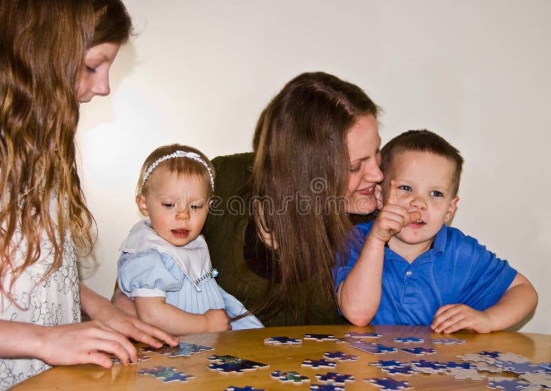
[[402, 152], [394, 156], [383, 183], [388, 202], [391, 179], [397, 185], [397, 204], [408, 211], [419, 211], [421, 219], [410, 222], [391, 237], [396, 249], [415, 245], [426, 251], [444, 222], [452, 218], [459, 201], [453, 191], [455, 165], [443, 156], [428, 152]]

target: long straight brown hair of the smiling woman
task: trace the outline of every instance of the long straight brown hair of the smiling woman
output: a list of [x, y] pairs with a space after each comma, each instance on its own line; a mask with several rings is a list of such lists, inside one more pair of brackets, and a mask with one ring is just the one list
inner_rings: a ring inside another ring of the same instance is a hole
[[314, 72], [289, 81], [262, 112], [253, 138], [253, 218], [275, 244], [277, 278], [251, 312], [291, 305], [302, 294], [293, 286], [310, 279], [324, 290], [310, 294], [333, 299], [331, 266], [351, 230], [338, 202], [350, 170], [346, 136], [358, 116], [379, 110], [357, 85]]

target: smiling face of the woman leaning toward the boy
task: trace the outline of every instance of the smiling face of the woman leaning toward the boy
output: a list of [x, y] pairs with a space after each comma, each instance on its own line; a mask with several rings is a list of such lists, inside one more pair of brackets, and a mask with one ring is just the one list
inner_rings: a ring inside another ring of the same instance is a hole
[[344, 194], [348, 213], [366, 215], [377, 208], [380, 190], [377, 183], [383, 180], [381, 164], [381, 138], [377, 120], [372, 114], [360, 116], [346, 136], [350, 156], [349, 185]]

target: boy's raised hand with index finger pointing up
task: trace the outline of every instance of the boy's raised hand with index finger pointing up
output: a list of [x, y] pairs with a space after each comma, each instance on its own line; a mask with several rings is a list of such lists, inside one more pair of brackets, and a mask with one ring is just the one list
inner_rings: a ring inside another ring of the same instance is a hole
[[398, 204], [398, 189], [396, 181], [391, 180], [388, 190], [388, 200], [381, 209], [370, 235], [381, 242], [388, 242], [393, 235], [402, 231], [411, 221], [419, 220], [421, 213], [418, 211], [409, 212], [406, 208]]

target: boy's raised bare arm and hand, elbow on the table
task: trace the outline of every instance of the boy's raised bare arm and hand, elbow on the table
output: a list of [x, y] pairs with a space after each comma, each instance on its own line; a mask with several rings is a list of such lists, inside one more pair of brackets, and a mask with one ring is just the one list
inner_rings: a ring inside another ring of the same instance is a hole
[[411, 220], [421, 218], [397, 204], [395, 180], [391, 180], [388, 203], [377, 215], [357, 261], [337, 289], [337, 305], [342, 315], [355, 326], [368, 324], [379, 308], [384, 246]]

